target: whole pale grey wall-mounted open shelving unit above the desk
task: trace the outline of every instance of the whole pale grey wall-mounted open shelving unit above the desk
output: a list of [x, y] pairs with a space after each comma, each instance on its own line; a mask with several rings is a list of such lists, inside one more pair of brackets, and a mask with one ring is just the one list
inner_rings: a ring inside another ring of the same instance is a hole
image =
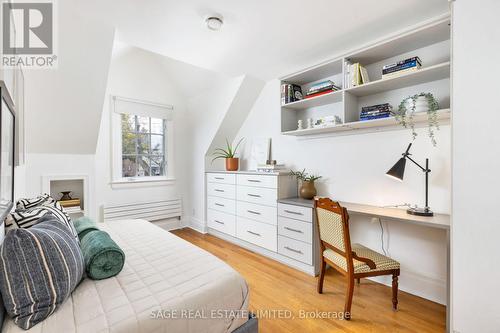
[[[400, 128], [394, 118], [360, 121], [361, 109], [366, 106], [389, 103], [397, 109], [403, 99], [421, 92], [432, 93], [441, 110], [439, 120], [450, 118], [450, 19], [426, 23], [404, 33], [390, 36], [382, 42], [346, 53], [329, 62], [306, 68], [281, 79], [281, 83], [300, 85], [305, 94], [315, 83], [331, 80], [342, 90], [303, 99], [281, 106], [281, 133], [307, 136], [354, 130]], [[381, 79], [386, 64], [418, 56], [422, 67], [415, 72]], [[351, 87], [345, 81], [347, 63], [362, 64], [370, 82]], [[298, 121], [307, 124], [323, 117], [337, 116], [344, 124], [297, 130]], [[423, 124], [426, 114], [416, 114], [414, 121]], [[357, 132], [353, 132], [357, 133]]]

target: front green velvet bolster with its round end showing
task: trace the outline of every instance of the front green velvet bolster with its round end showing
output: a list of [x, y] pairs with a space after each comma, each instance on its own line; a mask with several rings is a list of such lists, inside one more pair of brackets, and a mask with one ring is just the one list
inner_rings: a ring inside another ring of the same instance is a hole
[[87, 231], [80, 240], [87, 276], [93, 280], [117, 275], [125, 263], [125, 253], [101, 230]]

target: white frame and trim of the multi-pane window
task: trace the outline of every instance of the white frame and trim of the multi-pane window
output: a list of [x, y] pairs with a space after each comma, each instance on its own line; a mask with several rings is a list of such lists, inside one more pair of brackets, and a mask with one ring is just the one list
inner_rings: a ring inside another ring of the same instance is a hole
[[[174, 119], [172, 105], [111, 96], [111, 184], [112, 185], [164, 185], [175, 181], [174, 175]], [[124, 113], [165, 120], [164, 149], [166, 176], [122, 176], [121, 115]]]

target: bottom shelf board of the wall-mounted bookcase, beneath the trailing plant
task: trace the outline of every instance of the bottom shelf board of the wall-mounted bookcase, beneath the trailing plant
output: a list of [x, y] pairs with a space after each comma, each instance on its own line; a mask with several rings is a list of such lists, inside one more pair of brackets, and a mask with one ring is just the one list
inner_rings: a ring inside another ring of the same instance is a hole
[[[438, 110], [437, 115], [438, 115], [437, 116], [438, 120], [450, 119], [450, 109]], [[426, 122], [427, 113], [425, 112], [416, 113], [413, 118], [413, 121], [415, 124]], [[355, 131], [361, 129], [380, 129], [382, 127], [390, 127], [390, 126], [394, 126], [400, 129], [402, 128], [401, 125], [398, 124], [396, 119], [394, 119], [394, 117], [388, 117], [388, 118], [374, 119], [374, 120], [354, 121], [336, 126], [316, 127], [316, 128], [307, 128], [295, 131], [287, 131], [287, 132], [282, 132], [281, 134], [291, 135], [291, 136], [318, 135], [326, 133]]]

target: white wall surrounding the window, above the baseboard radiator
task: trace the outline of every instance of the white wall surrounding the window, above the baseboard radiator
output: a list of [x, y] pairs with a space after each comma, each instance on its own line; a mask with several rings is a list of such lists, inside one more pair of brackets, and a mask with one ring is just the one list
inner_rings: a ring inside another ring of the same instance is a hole
[[[117, 52], [112, 59], [105, 103], [102, 112], [99, 140], [96, 150], [96, 209], [104, 204], [144, 202], [151, 199], [182, 198], [187, 205], [185, 190], [188, 150], [185, 149], [189, 135], [186, 123], [185, 98], [181, 95], [169, 73], [162, 68], [162, 56], [137, 48]], [[118, 188], [111, 183], [111, 102], [110, 96], [117, 95], [174, 107], [174, 177], [168, 185]], [[100, 215], [98, 215], [100, 216]]]

